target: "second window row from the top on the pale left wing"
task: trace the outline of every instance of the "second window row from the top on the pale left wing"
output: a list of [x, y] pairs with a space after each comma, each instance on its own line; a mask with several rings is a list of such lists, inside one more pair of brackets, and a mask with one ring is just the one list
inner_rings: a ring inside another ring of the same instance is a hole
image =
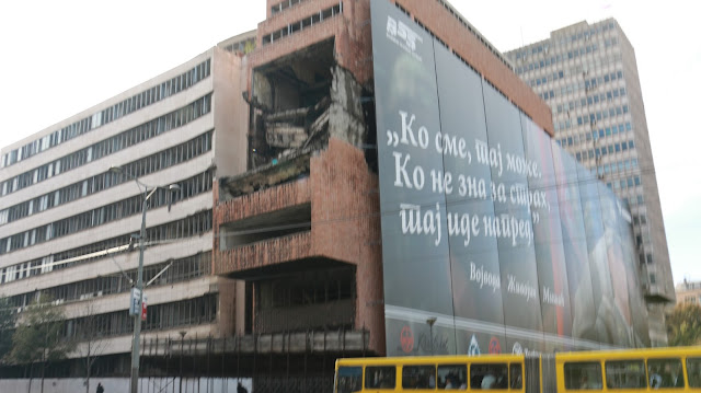
[[67, 154], [54, 162], [21, 173], [2, 182], [2, 195], [14, 193], [33, 184], [43, 182], [60, 173], [85, 165], [93, 160], [116, 153], [145, 140], [151, 139], [182, 127], [211, 111], [211, 94], [207, 94], [193, 103], [160, 116], [156, 119], [119, 132], [114, 137], [101, 140], [84, 149]]

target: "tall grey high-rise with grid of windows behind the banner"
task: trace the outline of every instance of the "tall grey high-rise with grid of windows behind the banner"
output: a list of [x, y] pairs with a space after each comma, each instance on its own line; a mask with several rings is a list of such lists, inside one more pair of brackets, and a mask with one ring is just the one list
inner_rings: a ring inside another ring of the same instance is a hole
[[675, 299], [633, 46], [613, 19], [577, 24], [506, 54], [550, 105], [558, 142], [630, 204], [653, 345]]

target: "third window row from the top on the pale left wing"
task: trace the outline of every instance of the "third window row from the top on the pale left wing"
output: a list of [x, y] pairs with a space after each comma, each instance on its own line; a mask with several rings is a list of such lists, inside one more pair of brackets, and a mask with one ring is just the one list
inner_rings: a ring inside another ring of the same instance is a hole
[[[211, 136], [209, 134], [205, 134], [180, 146], [125, 164], [122, 167], [128, 174], [137, 173], [137, 171], [140, 172], [141, 169], [146, 167], [149, 171], [143, 174], [149, 174], [180, 164], [183, 161], [196, 158], [209, 150], [211, 150]], [[148, 161], [148, 164], [145, 164], [142, 162], [143, 160]], [[0, 210], [0, 226], [20, 220], [35, 212], [41, 212], [46, 209], [71, 203], [76, 199], [119, 185], [126, 181], [129, 180], [111, 171], [96, 174], [81, 182], [70, 184], [55, 192], [44, 194], [34, 199], [25, 200], [4, 210]]]

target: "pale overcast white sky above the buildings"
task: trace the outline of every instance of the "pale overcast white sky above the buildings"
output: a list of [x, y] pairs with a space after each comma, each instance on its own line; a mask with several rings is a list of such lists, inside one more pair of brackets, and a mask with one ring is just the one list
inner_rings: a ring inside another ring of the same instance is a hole
[[[450, 3], [503, 53], [581, 21], [618, 20], [635, 48], [674, 280], [701, 280], [697, 2]], [[0, 9], [0, 147], [256, 28], [265, 18], [264, 0], [35, 0], [4, 2]]]

